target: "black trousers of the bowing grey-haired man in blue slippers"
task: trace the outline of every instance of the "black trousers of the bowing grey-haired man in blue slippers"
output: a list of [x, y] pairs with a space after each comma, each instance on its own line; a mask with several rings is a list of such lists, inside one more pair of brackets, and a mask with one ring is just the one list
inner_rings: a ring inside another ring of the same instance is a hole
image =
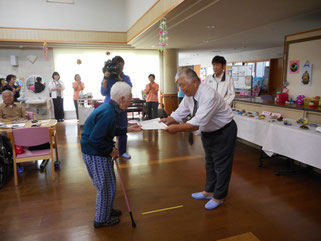
[[206, 192], [214, 192], [214, 198], [227, 196], [232, 174], [237, 126], [234, 120], [213, 132], [202, 132], [205, 150]]

